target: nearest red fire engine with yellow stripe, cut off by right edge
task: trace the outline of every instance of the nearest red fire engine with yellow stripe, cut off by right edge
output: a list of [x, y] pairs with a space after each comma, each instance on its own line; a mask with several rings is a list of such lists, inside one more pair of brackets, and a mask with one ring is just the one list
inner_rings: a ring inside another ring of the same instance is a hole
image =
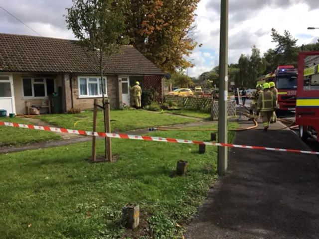
[[298, 58], [296, 124], [299, 136], [319, 141], [319, 51], [300, 52]]

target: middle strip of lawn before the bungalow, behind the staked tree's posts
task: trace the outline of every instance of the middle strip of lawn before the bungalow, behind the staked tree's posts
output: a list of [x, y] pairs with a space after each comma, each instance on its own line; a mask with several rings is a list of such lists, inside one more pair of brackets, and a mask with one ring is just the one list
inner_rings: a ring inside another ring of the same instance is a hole
[[[85, 118], [81, 118], [85, 117]], [[83, 129], [91, 131], [93, 126], [93, 113], [85, 112], [75, 115], [45, 115], [39, 119], [52, 123], [56, 126], [69, 129]], [[129, 131], [134, 129], [148, 128], [152, 126], [164, 126], [170, 124], [195, 122], [196, 119], [187, 119], [177, 116], [156, 114], [148, 111], [137, 110], [114, 110], [111, 111], [111, 129], [113, 131]], [[76, 123], [76, 124], [75, 124]], [[75, 124], [75, 126], [74, 126]], [[104, 131], [103, 113], [98, 112], [98, 131]]]

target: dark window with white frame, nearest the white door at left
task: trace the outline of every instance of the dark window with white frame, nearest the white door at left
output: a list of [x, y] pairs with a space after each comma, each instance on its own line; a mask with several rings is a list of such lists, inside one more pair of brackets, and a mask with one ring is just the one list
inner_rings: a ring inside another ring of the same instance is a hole
[[24, 97], [47, 97], [54, 93], [54, 79], [22, 78]]

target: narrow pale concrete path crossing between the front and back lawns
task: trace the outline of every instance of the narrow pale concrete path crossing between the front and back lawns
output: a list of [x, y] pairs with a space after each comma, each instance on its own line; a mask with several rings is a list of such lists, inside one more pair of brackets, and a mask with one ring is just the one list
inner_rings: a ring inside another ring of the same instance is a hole
[[[217, 123], [217, 122], [216, 121], [205, 121], [205, 122], [198, 121], [198, 122], [193, 122], [193, 123], [183, 123], [183, 124], [177, 124], [177, 125], [176, 124], [175, 125], [166, 125], [166, 127], [170, 127], [170, 126], [171, 127], [195, 127], [195, 126], [199, 126], [199, 125], [209, 125], [209, 124], [214, 124], [214, 123]], [[36, 123], [34, 123], [34, 124], [36, 124]], [[37, 125], [41, 125], [41, 124], [37, 124]], [[52, 126], [52, 127], [55, 127], [55, 126]], [[30, 129], [30, 130], [32, 130], [32, 129]], [[147, 134], [149, 132], [150, 132], [149, 128], [144, 128], [144, 129], [133, 130], [133, 131], [124, 132], [124, 133], [142, 135], [142, 134]], [[76, 136], [78, 136], [77, 134], [70, 134], [70, 133], [65, 133], [65, 135], [76, 135]], [[97, 137], [97, 139], [104, 139], [104, 137]], [[64, 145], [87, 142], [87, 141], [92, 141], [92, 137], [91, 136], [81, 136], [81, 137], [69, 138], [69, 139], [65, 139], [65, 140], [56, 140], [56, 141], [42, 142], [42, 143], [33, 143], [33, 144], [25, 145], [25, 146], [22, 146], [22, 147], [3, 147], [3, 148], [0, 148], [0, 154], [2, 154], [2, 153], [20, 152], [20, 151], [24, 151], [24, 150], [41, 149], [41, 148], [51, 148], [51, 147], [64, 146]]]

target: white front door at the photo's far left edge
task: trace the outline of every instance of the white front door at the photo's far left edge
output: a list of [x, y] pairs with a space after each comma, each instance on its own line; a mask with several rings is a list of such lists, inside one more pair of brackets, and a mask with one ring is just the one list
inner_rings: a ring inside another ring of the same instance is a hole
[[6, 110], [7, 115], [15, 114], [12, 75], [0, 75], [0, 110]]

